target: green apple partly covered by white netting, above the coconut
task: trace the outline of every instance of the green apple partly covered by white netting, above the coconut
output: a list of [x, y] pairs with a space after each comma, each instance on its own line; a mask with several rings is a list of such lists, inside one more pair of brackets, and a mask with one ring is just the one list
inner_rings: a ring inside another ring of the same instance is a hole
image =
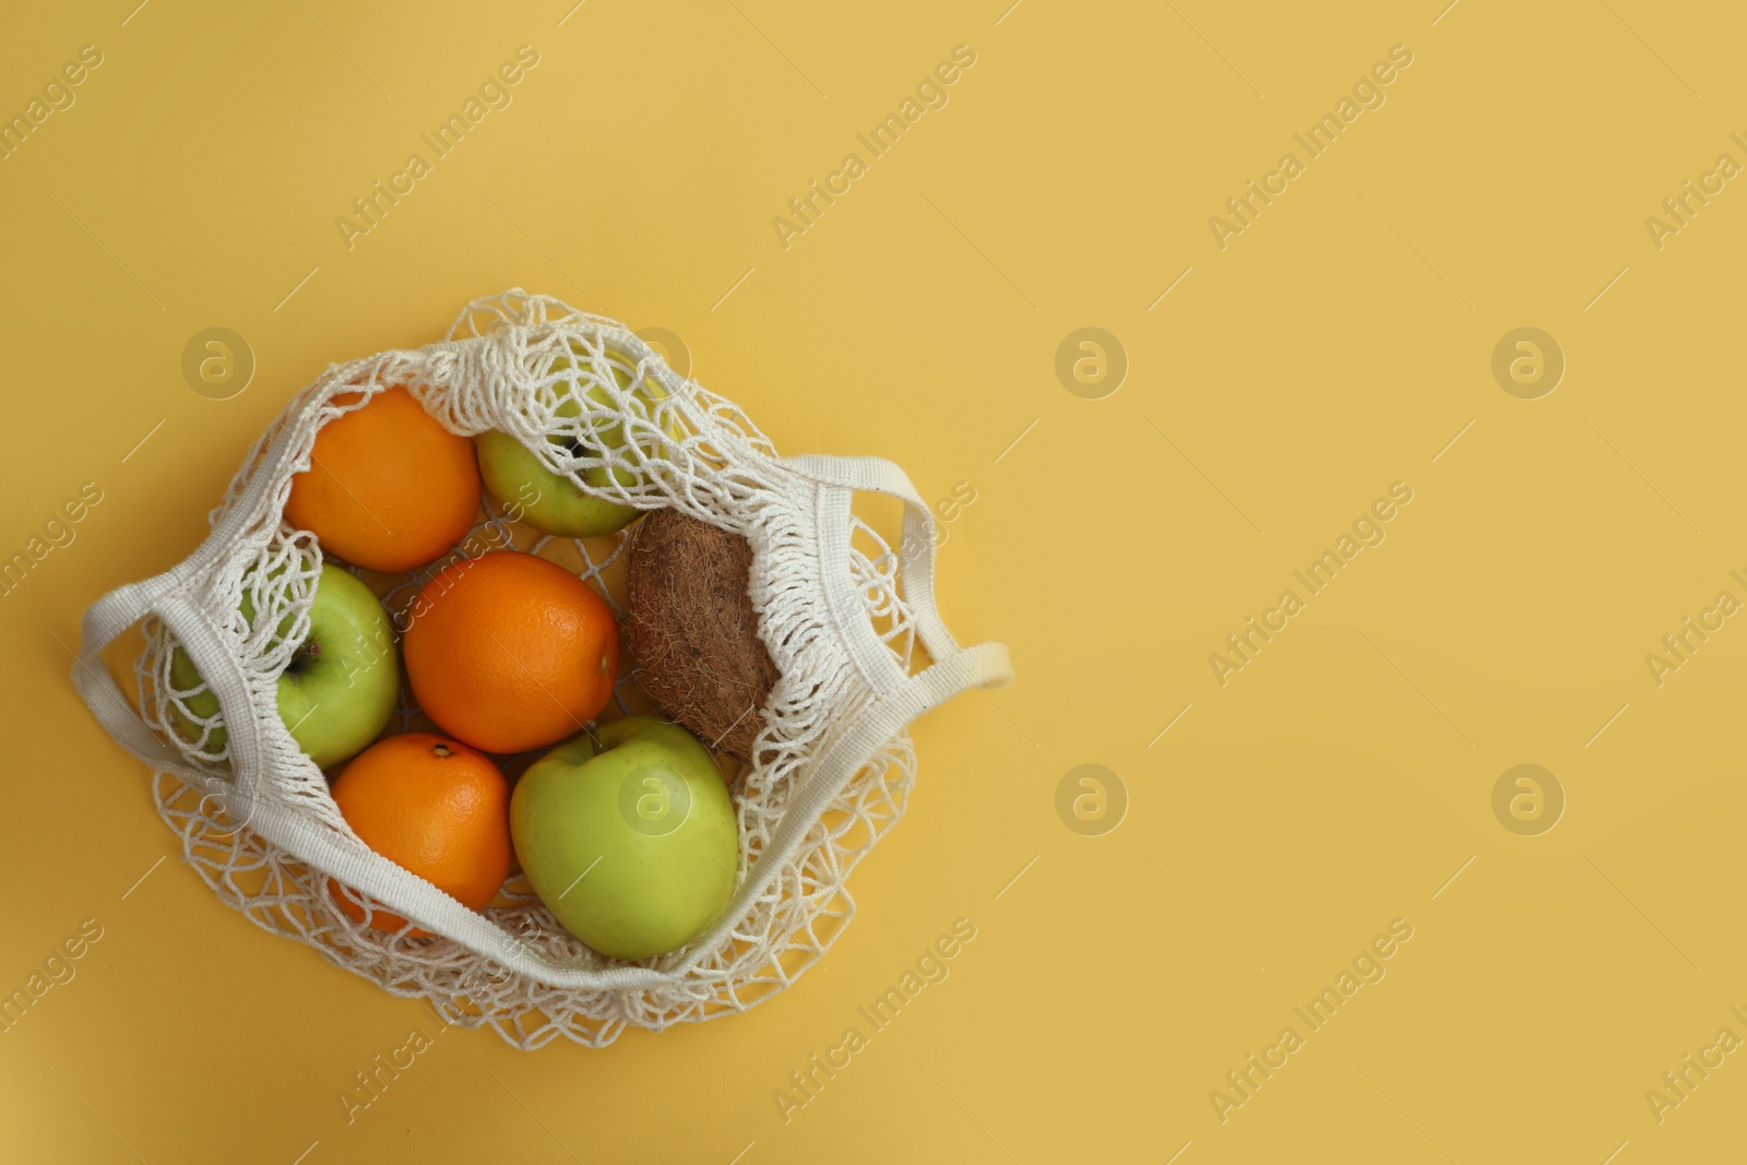
[[[578, 358], [585, 358], [583, 349], [575, 348], [573, 351]], [[631, 374], [618, 365], [634, 365], [636, 362], [620, 353], [611, 353], [611, 349], [608, 351], [617, 358], [611, 367], [618, 386], [631, 388]], [[563, 372], [570, 367], [571, 360], [566, 356], [552, 362], [552, 372]], [[638, 389], [639, 400], [653, 402], [662, 396], [666, 396], [666, 389], [655, 381], [645, 381], [643, 388]], [[596, 403], [611, 403], [608, 393], [599, 386], [589, 389], [589, 398]], [[582, 403], [575, 396], [566, 396], [559, 402], [556, 414], [559, 417], [582, 416]], [[625, 444], [624, 424], [608, 428], [599, 438], [608, 449], [622, 449]], [[590, 452], [587, 444], [575, 438], [549, 440], [566, 449], [571, 456]], [[597, 538], [624, 529], [641, 512], [636, 507], [618, 505], [617, 501], [583, 493], [568, 477], [549, 470], [533, 451], [508, 433], [498, 430], [479, 433], [473, 438], [473, 449], [479, 454], [479, 473], [486, 480], [486, 489], [498, 500], [498, 505], [547, 534]], [[631, 456], [634, 459], [636, 451]], [[596, 487], [608, 486], [613, 477], [615, 472], [606, 466], [594, 466], [582, 472], [582, 480]], [[627, 470], [618, 470], [617, 479], [624, 486], [636, 480]]]

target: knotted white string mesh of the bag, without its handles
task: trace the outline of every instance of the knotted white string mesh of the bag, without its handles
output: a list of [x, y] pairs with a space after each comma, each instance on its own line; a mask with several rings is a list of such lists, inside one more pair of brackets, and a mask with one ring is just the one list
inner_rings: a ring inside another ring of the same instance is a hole
[[[756, 760], [741, 767], [735, 782], [742, 889], [779, 837], [812, 765], [880, 695], [867, 660], [833, 625], [826, 587], [853, 589], [868, 643], [884, 645], [877, 650], [887, 651], [903, 676], [928, 662], [889, 545], [851, 519], [849, 578], [821, 580], [826, 534], [814, 514], [816, 484], [779, 463], [746, 414], [678, 377], [624, 325], [514, 290], [472, 304], [438, 344], [330, 367], [262, 435], [213, 510], [213, 529], [224, 536], [215, 533], [203, 547], [204, 557], [190, 559], [199, 569], [182, 582], [182, 594], [206, 613], [239, 664], [262, 758], [248, 781], [253, 800], [246, 812], [234, 809], [239, 765], [232, 756], [236, 734], [218, 732], [225, 713], [203, 716], [190, 707], [208, 685], [175, 683], [171, 660], [182, 645], [171, 620], [145, 618], [147, 646], [135, 664], [140, 714], [185, 760], [180, 774], [154, 774], [157, 809], [182, 838], [183, 859], [220, 901], [257, 926], [307, 943], [328, 962], [397, 996], [426, 997], [451, 1022], [489, 1024], [519, 1048], [557, 1036], [599, 1046], [627, 1025], [662, 1029], [706, 1020], [781, 990], [854, 915], [846, 879], [903, 812], [915, 756], [901, 730], [847, 777], [821, 812], [800, 823], [805, 828], [798, 845], [790, 842], [779, 868], [762, 872], [770, 877], [756, 894], [737, 894], [728, 915], [694, 947], [636, 964], [667, 975], [632, 985], [568, 975], [627, 964], [577, 941], [521, 879], [512, 879], [482, 912], [496, 927], [489, 941], [421, 938], [411, 922], [386, 933], [348, 917], [334, 896], [363, 906], [367, 919], [384, 905], [407, 915], [412, 905], [426, 906], [423, 919], [430, 922], [451, 917], [447, 906], [459, 905], [383, 903], [339, 887], [311, 866], [307, 854], [250, 828], [264, 814], [288, 810], [337, 838], [344, 852], [363, 851], [334, 805], [327, 779], [276, 711], [278, 676], [307, 634], [321, 569], [314, 536], [287, 526], [281, 514], [292, 477], [309, 468], [320, 424], [397, 384], [407, 386], [451, 431], [512, 433], [547, 468], [596, 496], [645, 510], [676, 507], [748, 538], [749, 592], [781, 679], [763, 709]], [[587, 480], [596, 484], [585, 484], [590, 470], [597, 472]], [[374, 583], [395, 627], [404, 629], [414, 596], [445, 566], [515, 547], [575, 569], [622, 613], [615, 589], [625, 536], [552, 538], [487, 503], [472, 534], [444, 559], [411, 575], [360, 576]], [[243, 611], [245, 596], [253, 618]], [[234, 709], [236, 699], [231, 704]], [[603, 720], [648, 709], [631, 672]], [[398, 730], [416, 727], [423, 723], [404, 686]], [[505, 767], [517, 769], [515, 762]], [[435, 887], [426, 889], [442, 898]], [[590, 982], [554, 985], [552, 978]]]

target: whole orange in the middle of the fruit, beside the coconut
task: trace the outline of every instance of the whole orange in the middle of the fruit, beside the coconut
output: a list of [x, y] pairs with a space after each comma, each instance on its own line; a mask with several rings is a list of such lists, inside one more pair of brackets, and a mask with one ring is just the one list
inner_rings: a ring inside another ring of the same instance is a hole
[[618, 627], [599, 594], [519, 550], [456, 562], [412, 603], [407, 679], [426, 716], [487, 753], [582, 732], [613, 695]]

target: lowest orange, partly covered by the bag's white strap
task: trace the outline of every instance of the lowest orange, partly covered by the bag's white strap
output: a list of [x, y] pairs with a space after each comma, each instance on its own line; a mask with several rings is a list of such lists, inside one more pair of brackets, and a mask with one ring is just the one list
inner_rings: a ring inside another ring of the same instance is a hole
[[[334, 781], [334, 803], [365, 845], [468, 910], [510, 877], [510, 786], [489, 756], [459, 741], [430, 732], [377, 741]], [[339, 908], [362, 920], [363, 908], [328, 886]], [[370, 917], [390, 933], [405, 922], [384, 910]]]

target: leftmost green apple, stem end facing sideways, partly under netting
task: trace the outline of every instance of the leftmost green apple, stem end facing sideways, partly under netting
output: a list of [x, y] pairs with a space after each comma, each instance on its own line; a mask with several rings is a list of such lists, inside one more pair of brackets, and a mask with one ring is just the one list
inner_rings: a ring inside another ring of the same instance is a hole
[[[246, 592], [241, 610], [253, 624], [255, 604]], [[290, 631], [290, 622], [287, 617], [283, 631]], [[169, 681], [178, 692], [201, 686], [194, 660], [180, 646], [169, 657]], [[398, 692], [400, 660], [388, 611], [351, 571], [323, 562], [309, 603], [309, 634], [280, 676], [280, 720], [309, 760], [327, 769], [362, 753], [383, 734], [395, 714]], [[211, 690], [182, 702], [203, 720], [218, 713]], [[175, 709], [175, 720], [185, 741], [201, 739], [201, 727], [182, 709]], [[225, 730], [213, 728], [203, 751], [217, 753], [224, 746]]]

